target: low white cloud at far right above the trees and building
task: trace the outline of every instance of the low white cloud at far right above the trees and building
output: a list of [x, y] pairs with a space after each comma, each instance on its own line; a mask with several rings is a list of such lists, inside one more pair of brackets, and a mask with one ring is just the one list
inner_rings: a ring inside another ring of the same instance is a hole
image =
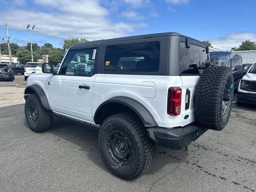
[[250, 39], [256, 42], [256, 33], [249, 32], [233, 32], [220, 38], [209, 40], [214, 48], [222, 51], [231, 50], [233, 47], [238, 47], [243, 41]]

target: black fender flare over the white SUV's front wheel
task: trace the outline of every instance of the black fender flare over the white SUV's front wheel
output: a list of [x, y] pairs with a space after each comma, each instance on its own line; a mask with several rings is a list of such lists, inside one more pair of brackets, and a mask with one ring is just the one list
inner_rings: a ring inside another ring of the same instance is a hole
[[44, 108], [46, 108], [47, 110], [51, 110], [50, 105], [47, 100], [47, 97], [46, 97], [46, 94], [44, 93], [44, 90], [37, 84], [30, 85], [30, 86], [26, 87], [25, 92], [24, 92], [24, 99], [26, 100], [28, 95], [30, 95], [33, 92], [36, 92], [36, 94], [39, 96]]

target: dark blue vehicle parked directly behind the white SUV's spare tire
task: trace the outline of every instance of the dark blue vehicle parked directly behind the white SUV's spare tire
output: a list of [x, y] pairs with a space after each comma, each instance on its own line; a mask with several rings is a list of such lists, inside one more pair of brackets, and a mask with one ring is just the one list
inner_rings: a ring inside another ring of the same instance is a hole
[[226, 66], [231, 68], [234, 78], [234, 90], [237, 90], [239, 81], [244, 74], [244, 64], [242, 64], [242, 56], [240, 54], [228, 51], [210, 52], [210, 61], [215, 66]]

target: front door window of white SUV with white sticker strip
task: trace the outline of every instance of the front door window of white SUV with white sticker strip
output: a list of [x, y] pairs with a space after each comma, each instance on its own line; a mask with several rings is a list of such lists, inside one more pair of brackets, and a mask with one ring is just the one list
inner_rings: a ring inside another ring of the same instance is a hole
[[60, 68], [59, 74], [92, 76], [96, 51], [96, 48], [69, 51]]

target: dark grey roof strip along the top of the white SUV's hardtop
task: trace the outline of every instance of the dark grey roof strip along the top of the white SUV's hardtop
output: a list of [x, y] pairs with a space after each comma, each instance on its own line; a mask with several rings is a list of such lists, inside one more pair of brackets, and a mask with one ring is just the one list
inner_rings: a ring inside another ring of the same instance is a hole
[[[188, 36], [184, 36], [182, 34], [175, 33], [175, 32], [154, 33], [154, 34], [136, 35], [136, 36], [128, 36], [128, 37], [120, 37], [120, 38], [96, 40], [96, 41], [78, 43], [78, 44], [74, 44], [73, 46], [71, 46], [70, 50], [90, 48], [90, 47], [99, 47], [101, 43], [135, 40], [135, 39], [152, 38], [152, 37], [161, 37], [161, 36], [182, 36], [182, 37], [190, 38]], [[190, 39], [200, 42], [199, 40], [196, 40], [196, 39], [193, 39], [193, 38], [190, 38]]]

